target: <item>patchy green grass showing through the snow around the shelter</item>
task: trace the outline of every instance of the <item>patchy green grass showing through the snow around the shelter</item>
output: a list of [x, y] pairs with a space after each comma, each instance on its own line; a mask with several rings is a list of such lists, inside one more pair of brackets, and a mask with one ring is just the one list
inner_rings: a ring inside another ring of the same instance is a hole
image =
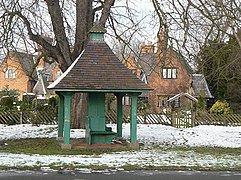
[[[240, 159], [241, 157], [241, 149], [240, 148], [221, 148], [221, 147], [178, 147], [178, 146], [142, 146], [140, 150], [137, 151], [131, 151], [131, 150], [125, 150], [124, 153], [127, 154], [135, 154], [138, 152], [145, 151], [147, 154], [156, 154], [153, 157], [158, 156], [165, 156], [165, 153], [171, 152], [176, 154], [177, 158], [183, 158], [186, 159], [185, 162], [188, 163], [189, 159], [192, 158], [203, 158], [204, 161], [208, 161], [208, 159], [223, 159], [228, 157], [229, 160], [232, 159], [235, 160], [235, 158]], [[96, 157], [101, 156], [101, 154], [107, 153], [107, 154], [118, 154], [119, 152], [116, 152], [116, 150], [62, 150], [60, 148], [60, 145], [57, 143], [55, 138], [36, 138], [36, 139], [19, 139], [19, 140], [7, 140], [4, 142], [0, 142], [0, 152], [4, 153], [14, 153], [14, 154], [40, 154], [40, 155], [97, 155]], [[194, 155], [193, 155], [194, 154]], [[191, 157], [193, 155], [193, 157]], [[130, 156], [131, 157], [131, 156]], [[122, 165], [122, 169], [125, 170], [240, 170], [241, 165], [240, 163], [236, 163], [235, 165], [232, 165], [232, 163], [229, 165], [205, 165], [202, 166], [200, 164], [196, 164], [194, 166], [186, 165], [185, 163], [181, 163], [180, 165], [176, 164], [167, 164], [167, 165], [158, 165], [156, 166], [156, 161], [153, 160], [153, 164], [145, 164], [145, 158], [150, 158], [149, 155], [146, 157], [140, 157], [141, 160], [143, 160], [143, 164], [129, 164], [129, 160], [126, 164]], [[168, 155], [169, 158], [169, 155]], [[170, 156], [170, 158], [172, 158]], [[208, 159], [207, 159], [208, 158]], [[231, 158], [231, 159], [230, 159]], [[158, 160], [158, 158], [157, 158]], [[165, 161], [165, 160], [164, 160]], [[172, 162], [172, 160], [170, 160]], [[150, 163], [150, 161], [148, 161]], [[198, 161], [197, 161], [198, 162]], [[204, 163], [205, 164], [205, 163]], [[212, 164], [212, 163], [211, 163]], [[80, 164], [49, 164], [48, 167], [51, 169], [78, 169], [78, 168], [89, 168], [89, 169], [108, 169], [108, 165], [99, 165], [99, 164], [91, 164], [91, 165], [80, 165]], [[33, 169], [33, 170], [39, 170], [41, 169], [41, 165], [34, 165], [31, 167], [25, 167], [25, 166], [19, 166], [19, 167], [7, 167], [7, 166], [0, 166], [0, 169]]]

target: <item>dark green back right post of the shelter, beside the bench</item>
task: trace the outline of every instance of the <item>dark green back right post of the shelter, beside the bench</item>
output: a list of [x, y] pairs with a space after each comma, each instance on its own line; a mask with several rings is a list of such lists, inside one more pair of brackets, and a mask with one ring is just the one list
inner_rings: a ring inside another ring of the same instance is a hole
[[117, 137], [122, 137], [122, 94], [117, 94]]

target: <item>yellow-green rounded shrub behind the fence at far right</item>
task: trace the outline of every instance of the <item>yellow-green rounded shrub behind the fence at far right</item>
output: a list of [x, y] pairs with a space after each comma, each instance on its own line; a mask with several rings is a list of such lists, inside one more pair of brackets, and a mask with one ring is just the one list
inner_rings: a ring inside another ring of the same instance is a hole
[[227, 101], [218, 100], [210, 109], [211, 114], [232, 114], [233, 111]]

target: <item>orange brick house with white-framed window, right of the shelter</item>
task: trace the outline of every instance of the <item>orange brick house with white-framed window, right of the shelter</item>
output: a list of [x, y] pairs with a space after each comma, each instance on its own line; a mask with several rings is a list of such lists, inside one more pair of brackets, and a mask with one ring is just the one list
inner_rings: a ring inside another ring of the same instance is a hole
[[[154, 51], [154, 44], [142, 43], [140, 56], [135, 57], [138, 60], [134, 61], [133, 57], [127, 60], [129, 64], [132, 64], [127, 67], [135, 66], [136, 75], [154, 89], [148, 94], [142, 94], [141, 97], [147, 98], [152, 110], [156, 112], [169, 108], [168, 99], [179, 93], [188, 93], [197, 98], [202, 90], [207, 99], [213, 98], [205, 77], [194, 74], [182, 55], [170, 47], [165, 48], [163, 37], [164, 35], [160, 34], [156, 51]], [[137, 65], [133, 65], [136, 62]], [[140, 69], [139, 75], [137, 72]], [[180, 106], [188, 107], [190, 102], [180, 96], [173, 103], [174, 107], [179, 108]]]

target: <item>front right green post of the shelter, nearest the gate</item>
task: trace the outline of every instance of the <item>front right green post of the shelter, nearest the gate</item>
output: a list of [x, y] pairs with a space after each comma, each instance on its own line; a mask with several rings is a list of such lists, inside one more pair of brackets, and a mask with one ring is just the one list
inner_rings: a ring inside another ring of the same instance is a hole
[[137, 142], [137, 93], [131, 94], [131, 124], [130, 124], [130, 136], [131, 143]]

